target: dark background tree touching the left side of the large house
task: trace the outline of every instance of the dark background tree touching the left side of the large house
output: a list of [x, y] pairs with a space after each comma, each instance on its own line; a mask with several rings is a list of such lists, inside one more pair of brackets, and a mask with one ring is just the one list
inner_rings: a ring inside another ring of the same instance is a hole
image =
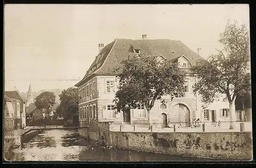
[[69, 118], [76, 118], [78, 112], [78, 88], [70, 87], [62, 90], [59, 94], [60, 105], [56, 112], [67, 121]]

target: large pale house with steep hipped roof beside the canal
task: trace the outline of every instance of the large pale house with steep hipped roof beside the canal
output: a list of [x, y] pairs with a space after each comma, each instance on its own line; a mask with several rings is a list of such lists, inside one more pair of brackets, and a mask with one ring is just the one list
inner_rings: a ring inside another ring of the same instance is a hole
[[[200, 50], [200, 49], [199, 49]], [[181, 41], [167, 39], [115, 39], [104, 46], [99, 44], [99, 54], [91, 64], [84, 78], [75, 86], [79, 88], [79, 123], [80, 126], [89, 125], [89, 130], [97, 130], [100, 121], [114, 121], [122, 124], [147, 125], [147, 113], [141, 105], [138, 109], [115, 114], [113, 99], [118, 86], [118, 68], [122, 61], [130, 54], [148, 54], [161, 61], [170, 59], [177, 61], [181, 69], [189, 70], [198, 59], [199, 54], [191, 51]], [[188, 73], [189, 74], [189, 73]], [[202, 121], [216, 122], [226, 121], [228, 117], [228, 102], [225, 100], [211, 104], [207, 108], [202, 107], [199, 95], [194, 95], [192, 86], [196, 82], [195, 76], [186, 76], [185, 96], [172, 99], [170, 95], [156, 101], [151, 110], [151, 123], [183, 123], [189, 126], [194, 118]]]

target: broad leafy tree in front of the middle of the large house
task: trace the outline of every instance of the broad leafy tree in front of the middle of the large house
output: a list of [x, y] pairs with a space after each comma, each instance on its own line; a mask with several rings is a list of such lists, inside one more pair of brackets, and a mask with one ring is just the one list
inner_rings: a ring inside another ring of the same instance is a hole
[[149, 127], [150, 111], [156, 100], [162, 95], [184, 93], [185, 73], [178, 63], [170, 60], [159, 62], [156, 57], [145, 54], [130, 55], [124, 60], [118, 77], [119, 90], [114, 99], [117, 112], [144, 104]]

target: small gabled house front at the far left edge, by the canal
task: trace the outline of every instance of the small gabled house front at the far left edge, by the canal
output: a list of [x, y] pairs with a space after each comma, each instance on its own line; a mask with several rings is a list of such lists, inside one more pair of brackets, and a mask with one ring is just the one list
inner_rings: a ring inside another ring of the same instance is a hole
[[12, 105], [12, 100], [9, 99], [5, 95], [4, 100], [4, 124], [5, 124], [5, 131], [13, 131], [14, 130], [14, 108]]

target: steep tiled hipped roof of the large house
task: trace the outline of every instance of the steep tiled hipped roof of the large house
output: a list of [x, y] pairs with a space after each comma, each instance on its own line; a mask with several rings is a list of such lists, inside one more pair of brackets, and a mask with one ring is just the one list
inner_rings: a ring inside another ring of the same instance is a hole
[[[168, 39], [115, 39], [106, 45], [96, 56], [83, 79], [91, 74], [117, 74], [122, 61], [129, 55], [139, 52], [154, 57], [163, 56], [166, 59], [177, 61], [181, 56], [188, 59], [190, 65], [194, 65], [197, 60], [203, 59], [190, 50], [179, 40]], [[83, 80], [82, 80], [83, 81]], [[80, 81], [81, 82], [81, 81]], [[75, 86], [79, 86], [78, 82]]]

